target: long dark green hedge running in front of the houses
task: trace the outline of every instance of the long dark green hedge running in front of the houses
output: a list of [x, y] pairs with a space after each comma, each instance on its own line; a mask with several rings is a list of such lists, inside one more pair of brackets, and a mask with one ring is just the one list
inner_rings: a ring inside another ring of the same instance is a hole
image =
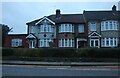
[[120, 48], [3, 48], [2, 56], [56, 58], [119, 58]]

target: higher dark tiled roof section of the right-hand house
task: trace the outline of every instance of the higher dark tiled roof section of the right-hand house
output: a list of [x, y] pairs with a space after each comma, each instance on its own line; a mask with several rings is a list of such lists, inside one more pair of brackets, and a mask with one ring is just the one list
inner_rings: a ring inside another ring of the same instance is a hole
[[120, 11], [113, 13], [112, 11], [84, 11], [85, 20], [118, 20], [120, 19]]

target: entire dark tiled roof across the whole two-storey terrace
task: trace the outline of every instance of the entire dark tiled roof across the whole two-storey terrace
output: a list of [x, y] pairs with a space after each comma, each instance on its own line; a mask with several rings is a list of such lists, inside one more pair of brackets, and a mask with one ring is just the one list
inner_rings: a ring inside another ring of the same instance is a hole
[[[112, 11], [84, 11], [83, 14], [61, 14], [61, 17], [57, 19], [55, 14], [46, 17], [55, 23], [85, 23], [86, 20], [120, 20], [120, 11], [116, 13]], [[36, 19], [27, 24], [35, 24], [41, 19]]]

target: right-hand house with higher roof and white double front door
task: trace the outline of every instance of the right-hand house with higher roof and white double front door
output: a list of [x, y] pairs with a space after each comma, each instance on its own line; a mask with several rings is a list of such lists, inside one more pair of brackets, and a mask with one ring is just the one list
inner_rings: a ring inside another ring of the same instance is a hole
[[90, 47], [117, 47], [120, 42], [120, 11], [84, 11]]

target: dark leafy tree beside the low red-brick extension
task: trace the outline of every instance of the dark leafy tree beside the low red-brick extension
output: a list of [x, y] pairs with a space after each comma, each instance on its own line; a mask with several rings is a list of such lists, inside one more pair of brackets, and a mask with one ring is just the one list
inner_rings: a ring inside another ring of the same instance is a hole
[[8, 25], [0, 24], [0, 28], [2, 28], [2, 47], [4, 47], [5, 36], [12, 30]]

